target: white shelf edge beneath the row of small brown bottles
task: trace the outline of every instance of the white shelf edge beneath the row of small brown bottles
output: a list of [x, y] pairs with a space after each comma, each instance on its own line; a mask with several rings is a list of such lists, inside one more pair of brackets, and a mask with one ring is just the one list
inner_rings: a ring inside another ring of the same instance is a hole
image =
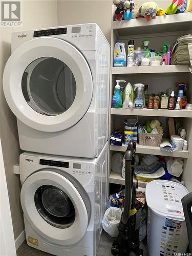
[[111, 108], [111, 115], [127, 115], [127, 116], [171, 116], [171, 117], [187, 117], [192, 118], [192, 110], [153, 110], [153, 109], [115, 109]]

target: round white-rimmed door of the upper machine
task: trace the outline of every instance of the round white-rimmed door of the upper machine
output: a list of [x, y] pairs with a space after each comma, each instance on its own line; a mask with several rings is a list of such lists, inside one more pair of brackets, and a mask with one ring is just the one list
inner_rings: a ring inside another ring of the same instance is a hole
[[44, 132], [69, 129], [86, 114], [93, 81], [83, 55], [69, 42], [35, 38], [10, 56], [4, 94], [16, 117]]

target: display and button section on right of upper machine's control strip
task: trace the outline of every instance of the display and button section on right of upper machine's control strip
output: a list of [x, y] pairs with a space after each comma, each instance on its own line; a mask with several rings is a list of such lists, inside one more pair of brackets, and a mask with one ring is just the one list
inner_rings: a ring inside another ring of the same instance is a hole
[[75, 26], [71, 28], [71, 37], [88, 37], [93, 36], [93, 26], [91, 24]]

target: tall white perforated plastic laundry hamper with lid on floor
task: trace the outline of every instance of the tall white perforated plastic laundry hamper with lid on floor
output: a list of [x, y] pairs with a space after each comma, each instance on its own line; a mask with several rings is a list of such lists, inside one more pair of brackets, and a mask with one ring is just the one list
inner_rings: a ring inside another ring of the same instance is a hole
[[181, 203], [186, 194], [187, 189], [173, 181], [154, 180], [146, 185], [149, 256], [186, 252], [187, 229]]

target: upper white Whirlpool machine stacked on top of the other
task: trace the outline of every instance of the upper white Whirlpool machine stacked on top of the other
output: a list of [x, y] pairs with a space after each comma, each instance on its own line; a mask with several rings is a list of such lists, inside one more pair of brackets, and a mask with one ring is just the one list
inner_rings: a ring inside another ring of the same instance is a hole
[[109, 67], [96, 24], [13, 33], [3, 88], [20, 148], [97, 157], [108, 138]]

